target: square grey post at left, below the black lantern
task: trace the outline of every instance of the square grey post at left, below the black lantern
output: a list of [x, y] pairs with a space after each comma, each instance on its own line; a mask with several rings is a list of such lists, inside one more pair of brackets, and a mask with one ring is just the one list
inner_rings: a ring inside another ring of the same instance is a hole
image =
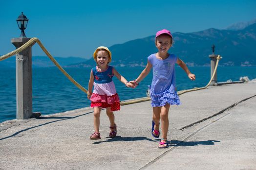
[[[21, 47], [30, 38], [13, 38], [12, 44]], [[31, 46], [16, 54], [16, 118], [32, 116], [32, 50]]]

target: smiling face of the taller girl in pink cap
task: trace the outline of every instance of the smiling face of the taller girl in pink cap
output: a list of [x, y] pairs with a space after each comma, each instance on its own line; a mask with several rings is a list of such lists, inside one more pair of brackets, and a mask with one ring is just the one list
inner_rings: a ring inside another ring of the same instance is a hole
[[159, 35], [155, 40], [155, 46], [161, 53], [167, 53], [171, 48], [171, 37], [166, 34]]

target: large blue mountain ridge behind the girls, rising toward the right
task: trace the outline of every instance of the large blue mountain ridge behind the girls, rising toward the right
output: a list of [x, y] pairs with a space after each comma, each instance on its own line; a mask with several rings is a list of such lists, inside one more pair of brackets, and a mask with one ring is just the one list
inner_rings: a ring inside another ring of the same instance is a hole
[[[241, 30], [208, 30], [195, 33], [173, 33], [175, 43], [170, 53], [176, 54], [190, 66], [208, 66], [212, 45], [215, 54], [220, 54], [223, 66], [256, 66], [256, 23]], [[112, 52], [112, 66], [134, 67], [145, 66], [147, 57], [157, 52], [154, 45], [154, 35], [128, 41], [109, 47]], [[68, 67], [92, 67], [95, 61], [88, 61], [70, 65]]]

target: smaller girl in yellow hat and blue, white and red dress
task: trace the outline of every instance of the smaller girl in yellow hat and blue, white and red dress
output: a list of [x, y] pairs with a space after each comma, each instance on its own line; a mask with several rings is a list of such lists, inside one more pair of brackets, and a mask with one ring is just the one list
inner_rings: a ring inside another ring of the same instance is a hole
[[[115, 75], [118, 80], [124, 83], [127, 87], [134, 86], [133, 84], [128, 83], [115, 68], [108, 66], [108, 63], [111, 62], [111, 52], [107, 47], [98, 47], [93, 53], [93, 58], [97, 63], [97, 66], [91, 69], [87, 91], [87, 98], [91, 100], [91, 107], [93, 107], [94, 110], [94, 133], [90, 136], [90, 139], [92, 140], [101, 138], [99, 128], [102, 108], [106, 108], [106, 113], [110, 121], [109, 137], [115, 137], [117, 133], [113, 111], [120, 110], [120, 101], [118, 94], [116, 93], [114, 82], [112, 81], [113, 76]], [[94, 90], [92, 92], [93, 86]]]

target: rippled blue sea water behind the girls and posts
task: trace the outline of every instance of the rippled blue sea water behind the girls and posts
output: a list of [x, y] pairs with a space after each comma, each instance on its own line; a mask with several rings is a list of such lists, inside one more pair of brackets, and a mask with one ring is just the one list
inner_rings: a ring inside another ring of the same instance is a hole
[[[65, 68], [79, 84], [88, 87], [91, 68]], [[144, 69], [116, 68], [128, 81], [138, 77]], [[176, 67], [177, 90], [190, 89], [207, 85], [210, 80], [210, 67], [190, 67], [196, 75], [191, 81], [180, 67]], [[219, 67], [217, 69], [218, 82], [227, 80], [238, 81], [241, 76], [249, 79], [256, 78], [256, 67]], [[15, 68], [0, 68], [0, 122], [16, 119], [16, 78]], [[114, 78], [120, 100], [128, 100], [146, 96], [152, 73], [140, 83], [137, 88], [127, 88], [118, 79]], [[58, 68], [33, 68], [33, 112], [42, 115], [54, 114], [68, 110], [90, 106], [86, 94], [73, 85]]]

